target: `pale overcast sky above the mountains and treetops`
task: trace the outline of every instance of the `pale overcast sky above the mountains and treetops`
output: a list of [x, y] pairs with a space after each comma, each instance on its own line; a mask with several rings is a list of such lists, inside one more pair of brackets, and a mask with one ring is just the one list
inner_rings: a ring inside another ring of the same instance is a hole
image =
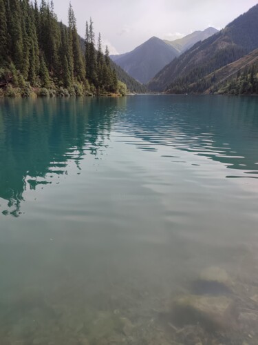
[[[177, 39], [208, 26], [222, 29], [258, 0], [71, 0], [78, 33], [92, 17], [111, 53], [128, 52], [152, 36]], [[69, 0], [54, 0], [59, 20], [67, 23]]]

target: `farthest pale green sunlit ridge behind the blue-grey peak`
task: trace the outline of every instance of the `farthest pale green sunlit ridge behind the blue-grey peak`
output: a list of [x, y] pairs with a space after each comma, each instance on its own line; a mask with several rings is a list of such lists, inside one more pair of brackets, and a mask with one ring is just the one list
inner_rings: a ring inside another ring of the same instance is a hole
[[164, 42], [166, 44], [169, 44], [170, 46], [178, 50], [180, 54], [182, 54], [182, 52], [185, 52], [186, 50], [193, 47], [195, 43], [199, 41], [204, 41], [204, 39], [208, 39], [208, 37], [211, 37], [213, 34], [217, 32], [219, 32], [219, 30], [210, 27], [204, 31], [199, 30], [192, 32], [191, 34], [188, 34], [182, 39], [175, 39], [175, 41], [164, 40]]

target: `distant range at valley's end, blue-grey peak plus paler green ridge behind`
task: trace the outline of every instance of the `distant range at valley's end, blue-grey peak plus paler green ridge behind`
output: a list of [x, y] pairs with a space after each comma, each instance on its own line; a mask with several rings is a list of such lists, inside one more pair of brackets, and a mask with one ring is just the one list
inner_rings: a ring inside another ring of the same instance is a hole
[[158, 37], [151, 37], [131, 52], [111, 55], [111, 59], [131, 77], [140, 83], [147, 83], [175, 57], [191, 48], [197, 41], [202, 41], [217, 31], [215, 28], [195, 31], [175, 41], [162, 41]]

